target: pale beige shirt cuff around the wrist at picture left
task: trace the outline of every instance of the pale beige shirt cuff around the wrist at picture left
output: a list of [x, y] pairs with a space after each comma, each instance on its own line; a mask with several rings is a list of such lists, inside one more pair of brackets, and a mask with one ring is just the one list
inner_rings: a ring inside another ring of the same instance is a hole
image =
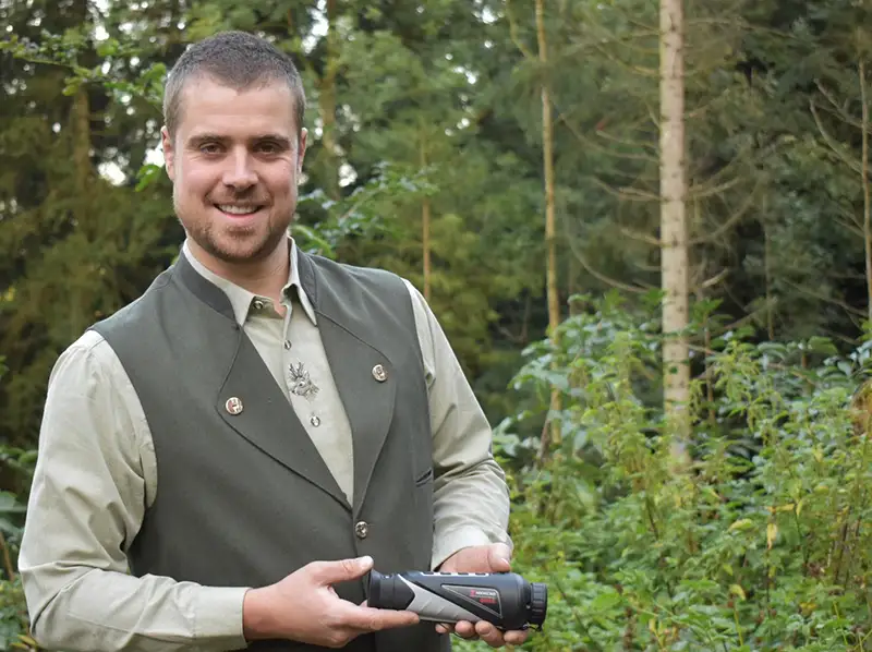
[[194, 614], [198, 649], [241, 650], [249, 645], [242, 631], [242, 602], [247, 591], [247, 587], [204, 587]]

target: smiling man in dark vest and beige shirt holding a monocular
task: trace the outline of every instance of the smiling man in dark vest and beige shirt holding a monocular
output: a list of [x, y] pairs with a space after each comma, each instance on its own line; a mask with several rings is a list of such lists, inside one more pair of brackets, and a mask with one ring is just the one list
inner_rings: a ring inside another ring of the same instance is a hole
[[525, 632], [368, 607], [366, 577], [509, 569], [491, 432], [422, 297], [288, 234], [287, 57], [242, 33], [170, 73], [178, 263], [52, 370], [20, 569], [49, 649], [447, 650]]

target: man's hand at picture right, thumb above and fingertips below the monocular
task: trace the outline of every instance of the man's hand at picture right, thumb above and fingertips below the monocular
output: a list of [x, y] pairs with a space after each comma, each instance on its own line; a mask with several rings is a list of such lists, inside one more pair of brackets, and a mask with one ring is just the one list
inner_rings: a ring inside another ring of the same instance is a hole
[[[448, 557], [439, 567], [441, 572], [508, 572], [511, 570], [511, 550], [504, 543], [464, 547]], [[481, 639], [492, 648], [506, 644], [520, 645], [530, 636], [529, 631], [500, 631], [491, 623], [461, 620], [453, 626], [439, 624], [439, 633], [453, 632], [464, 639]]]

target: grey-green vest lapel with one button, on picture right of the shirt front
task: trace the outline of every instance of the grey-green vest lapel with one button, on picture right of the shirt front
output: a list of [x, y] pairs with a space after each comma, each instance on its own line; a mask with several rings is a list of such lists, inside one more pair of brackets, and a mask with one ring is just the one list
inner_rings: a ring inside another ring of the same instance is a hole
[[[397, 374], [393, 365], [358, 327], [362, 315], [352, 314], [332, 293], [320, 292], [320, 278], [307, 254], [298, 251], [300, 282], [318, 316], [320, 334], [334, 381], [342, 399], [354, 446], [354, 506], [356, 516], [366, 497], [373, 469], [393, 418]], [[378, 325], [367, 324], [370, 329]], [[380, 366], [379, 366], [380, 365]], [[379, 372], [380, 370], [380, 372]]]

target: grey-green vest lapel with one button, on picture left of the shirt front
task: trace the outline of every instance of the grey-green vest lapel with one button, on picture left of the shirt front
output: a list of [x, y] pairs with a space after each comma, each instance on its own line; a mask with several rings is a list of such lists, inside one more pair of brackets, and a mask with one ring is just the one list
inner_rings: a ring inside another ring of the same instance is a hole
[[[209, 319], [204, 331], [213, 354], [227, 357], [227, 373], [219, 381], [215, 409], [239, 435], [348, 508], [344, 494], [300, 423], [290, 401], [276, 385], [257, 349], [237, 325], [227, 295], [203, 278], [184, 254], [179, 256], [177, 270], [180, 280], [191, 292], [227, 317]], [[239, 402], [231, 399], [238, 399]]]

